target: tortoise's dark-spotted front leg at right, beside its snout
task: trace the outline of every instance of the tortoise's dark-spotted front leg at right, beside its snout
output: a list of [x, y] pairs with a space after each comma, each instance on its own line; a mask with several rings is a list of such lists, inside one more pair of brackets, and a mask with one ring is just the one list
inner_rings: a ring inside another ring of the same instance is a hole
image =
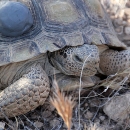
[[122, 72], [130, 67], [130, 50], [108, 49], [100, 55], [100, 70], [105, 75]]

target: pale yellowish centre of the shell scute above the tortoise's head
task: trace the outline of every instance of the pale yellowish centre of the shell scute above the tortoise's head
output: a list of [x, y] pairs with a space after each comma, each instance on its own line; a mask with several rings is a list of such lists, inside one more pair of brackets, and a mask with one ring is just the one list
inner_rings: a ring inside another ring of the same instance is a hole
[[78, 20], [77, 10], [70, 4], [71, 1], [47, 2], [45, 9], [48, 12], [49, 20], [61, 23], [72, 23]]

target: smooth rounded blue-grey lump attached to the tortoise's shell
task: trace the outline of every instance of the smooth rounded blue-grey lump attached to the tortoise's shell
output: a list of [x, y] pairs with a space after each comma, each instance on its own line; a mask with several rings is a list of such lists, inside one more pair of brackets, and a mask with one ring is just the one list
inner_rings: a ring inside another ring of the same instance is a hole
[[28, 7], [20, 2], [0, 2], [0, 33], [5, 36], [19, 36], [33, 24]]

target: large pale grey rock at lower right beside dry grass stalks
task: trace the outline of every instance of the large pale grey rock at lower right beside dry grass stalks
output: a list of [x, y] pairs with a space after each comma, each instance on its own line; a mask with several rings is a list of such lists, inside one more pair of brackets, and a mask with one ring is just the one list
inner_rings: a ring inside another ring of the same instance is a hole
[[114, 121], [123, 122], [129, 119], [130, 114], [130, 92], [112, 98], [103, 108], [105, 114]]

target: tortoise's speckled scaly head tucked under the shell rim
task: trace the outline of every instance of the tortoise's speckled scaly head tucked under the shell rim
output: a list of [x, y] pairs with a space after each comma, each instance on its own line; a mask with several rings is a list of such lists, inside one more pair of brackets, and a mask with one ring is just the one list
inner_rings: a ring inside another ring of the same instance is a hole
[[49, 53], [50, 63], [66, 75], [92, 76], [97, 73], [99, 53], [95, 45], [84, 44], [76, 47], [65, 47]]

